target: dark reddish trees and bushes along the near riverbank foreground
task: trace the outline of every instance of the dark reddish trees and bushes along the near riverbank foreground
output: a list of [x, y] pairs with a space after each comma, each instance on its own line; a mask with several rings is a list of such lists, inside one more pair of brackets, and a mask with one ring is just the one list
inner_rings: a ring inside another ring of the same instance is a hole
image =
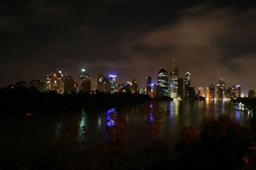
[[[160, 138], [162, 121], [168, 116], [157, 102], [143, 106], [144, 153], [151, 163], [132, 169], [255, 169], [255, 128], [240, 125], [222, 115], [204, 117], [199, 128], [183, 127], [182, 139], [176, 144], [177, 157], [168, 154], [168, 141]], [[55, 139], [49, 150], [0, 161], [0, 169], [129, 169], [125, 140], [127, 120], [109, 113], [108, 125], [99, 141], [88, 142], [86, 127], [79, 131], [79, 117], [70, 119], [67, 129]], [[152, 161], [153, 160], [153, 161]]]

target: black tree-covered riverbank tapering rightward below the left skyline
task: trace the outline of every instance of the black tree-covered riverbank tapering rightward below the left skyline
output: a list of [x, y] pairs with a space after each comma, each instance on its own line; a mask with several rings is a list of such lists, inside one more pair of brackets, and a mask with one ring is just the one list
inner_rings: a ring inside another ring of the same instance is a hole
[[26, 88], [26, 82], [17, 82], [0, 88], [0, 115], [51, 113], [55, 111], [107, 109], [140, 104], [150, 100], [146, 94], [103, 94], [96, 92], [57, 94]]

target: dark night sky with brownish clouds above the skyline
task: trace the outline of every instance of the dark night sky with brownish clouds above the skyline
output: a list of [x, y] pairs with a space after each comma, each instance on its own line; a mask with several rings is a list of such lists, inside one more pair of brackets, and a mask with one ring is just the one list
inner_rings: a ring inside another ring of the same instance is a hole
[[99, 74], [143, 85], [175, 58], [179, 77], [190, 71], [195, 88], [222, 77], [245, 94], [256, 89], [255, 3], [178, 2], [3, 0], [0, 87], [55, 68], [76, 79], [86, 68], [92, 88]]

